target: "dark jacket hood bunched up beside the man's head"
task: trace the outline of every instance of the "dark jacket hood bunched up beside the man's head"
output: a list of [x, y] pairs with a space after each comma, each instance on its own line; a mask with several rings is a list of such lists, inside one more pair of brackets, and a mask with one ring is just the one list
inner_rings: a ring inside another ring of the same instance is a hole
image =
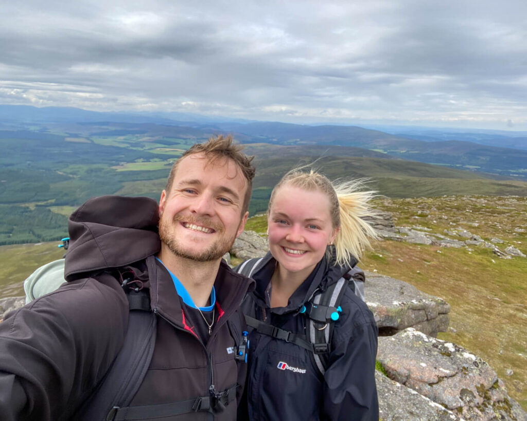
[[64, 277], [126, 266], [159, 252], [159, 207], [148, 197], [100, 196], [70, 216]]

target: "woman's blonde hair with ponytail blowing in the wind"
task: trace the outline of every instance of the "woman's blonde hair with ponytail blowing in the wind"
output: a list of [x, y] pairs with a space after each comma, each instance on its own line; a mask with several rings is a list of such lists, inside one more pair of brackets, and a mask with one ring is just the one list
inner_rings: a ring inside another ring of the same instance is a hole
[[[375, 215], [369, 201], [377, 192], [364, 191], [363, 179], [332, 183], [325, 175], [313, 169], [304, 172], [304, 168], [291, 169], [282, 177], [271, 193], [267, 212], [269, 213], [275, 194], [282, 186], [324, 193], [329, 199], [333, 228], [340, 228], [335, 238], [336, 263], [349, 266], [355, 259], [360, 260], [364, 250], [371, 247], [369, 238], [377, 238], [375, 229], [363, 219], [365, 216]], [[327, 256], [330, 257], [331, 253], [331, 248], [328, 247]]]

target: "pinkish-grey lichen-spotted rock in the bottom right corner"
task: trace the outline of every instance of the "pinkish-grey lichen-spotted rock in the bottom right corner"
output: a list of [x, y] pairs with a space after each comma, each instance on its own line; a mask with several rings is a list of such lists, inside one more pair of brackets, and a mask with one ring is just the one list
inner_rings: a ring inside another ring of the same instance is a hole
[[413, 328], [379, 338], [388, 377], [466, 420], [527, 420], [494, 370], [466, 349]]

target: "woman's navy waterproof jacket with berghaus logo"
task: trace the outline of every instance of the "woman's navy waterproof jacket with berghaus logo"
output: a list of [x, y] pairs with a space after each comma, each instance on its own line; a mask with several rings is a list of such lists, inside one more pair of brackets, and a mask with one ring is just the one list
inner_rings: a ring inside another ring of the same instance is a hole
[[[257, 287], [243, 302], [243, 313], [298, 335], [305, 335], [307, 321], [299, 313], [300, 307], [317, 288], [337, 282], [349, 270], [323, 258], [287, 307], [271, 309], [266, 288], [276, 260], [268, 253], [262, 263], [252, 274]], [[251, 352], [241, 417], [251, 421], [378, 420], [374, 377], [377, 325], [351, 288], [346, 287], [340, 306], [342, 313], [335, 322], [324, 376], [308, 350], [256, 330], [249, 333]]]

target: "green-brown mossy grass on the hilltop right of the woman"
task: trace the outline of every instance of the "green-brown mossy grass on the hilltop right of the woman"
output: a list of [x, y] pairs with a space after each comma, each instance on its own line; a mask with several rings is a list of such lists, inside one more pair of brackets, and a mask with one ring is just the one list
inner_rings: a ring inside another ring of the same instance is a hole
[[[400, 199], [378, 205], [393, 212], [397, 226], [419, 225], [440, 234], [461, 227], [486, 240], [500, 238], [527, 254], [523, 197]], [[501, 259], [490, 249], [471, 249], [384, 240], [374, 244], [361, 266], [444, 298], [452, 306], [452, 329], [439, 337], [486, 360], [527, 410], [527, 258]], [[508, 369], [511, 376], [505, 374]]]

